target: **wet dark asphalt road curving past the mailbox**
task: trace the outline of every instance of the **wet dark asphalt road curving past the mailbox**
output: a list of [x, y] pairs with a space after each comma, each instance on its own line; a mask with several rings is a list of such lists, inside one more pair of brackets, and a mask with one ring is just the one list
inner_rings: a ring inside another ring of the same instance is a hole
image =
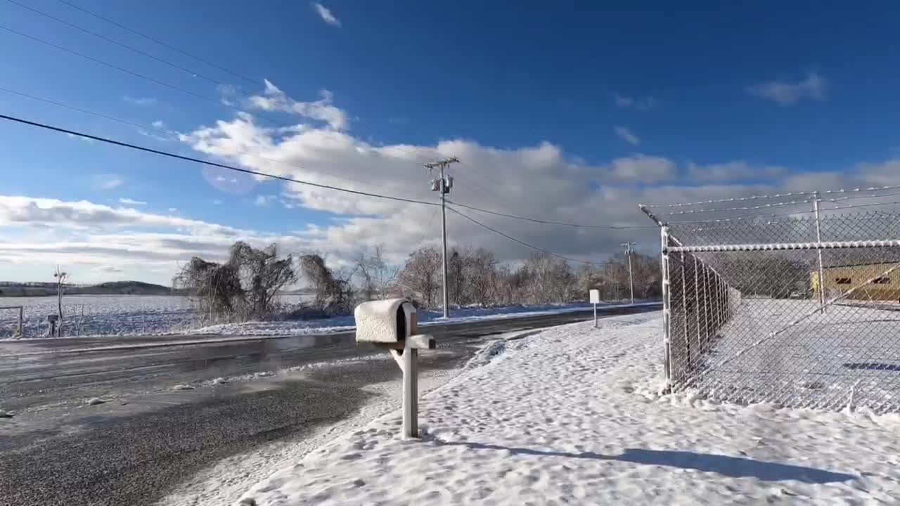
[[[439, 348], [421, 354], [421, 370], [461, 366], [487, 336], [590, 317], [429, 326]], [[177, 339], [185, 338], [168, 340]], [[152, 504], [221, 458], [353, 415], [373, 395], [363, 387], [401, 375], [392, 360], [365, 360], [384, 352], [356, 347], [352, 333], [161, 348], [140, 348], [159, 338], [121, 342], [138, 348], [83, 350], [108, 339], [0, 345], [0, 408], [15, 413], [0, 419], [0, 504]], [[322, 362], [329, 366], [310, 366]], [[211, 384], [219, 377], [235, 379]], [[193, 390], [173, 391], [177, 384]], [[87, 405], [94, 397], [106, 402]]]

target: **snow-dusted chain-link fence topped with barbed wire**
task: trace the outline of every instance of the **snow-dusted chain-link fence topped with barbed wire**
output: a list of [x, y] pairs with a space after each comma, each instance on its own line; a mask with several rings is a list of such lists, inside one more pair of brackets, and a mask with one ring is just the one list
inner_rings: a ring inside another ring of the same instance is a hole
[[[900, 411], [900, 203], [887, 189], [642, 206], [662, 231], [671, 391]], [[851, 199], [868, 200], [837, 204]], [[836, 212], [874, 206], [893, 207]]]

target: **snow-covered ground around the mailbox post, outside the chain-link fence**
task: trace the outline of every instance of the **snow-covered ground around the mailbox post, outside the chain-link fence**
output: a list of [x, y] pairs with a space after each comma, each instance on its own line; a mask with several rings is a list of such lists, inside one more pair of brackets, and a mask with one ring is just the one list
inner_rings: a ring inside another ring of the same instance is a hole
[[393, 411], [240, 500], [896, 503], [900, 417], [661, 396], [661, 325], [644, 313], [491, 343], [421, 400], [422, 439], [399, 438]]

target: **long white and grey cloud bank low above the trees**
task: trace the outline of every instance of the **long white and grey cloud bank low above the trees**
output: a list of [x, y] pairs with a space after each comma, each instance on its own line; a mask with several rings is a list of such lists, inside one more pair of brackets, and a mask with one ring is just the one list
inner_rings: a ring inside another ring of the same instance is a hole
[[[284, 100], [291, 99], [284, 97]], [[290, 129], [261, 126], [249, 114], [238, 114], [227, 121], [194, 129], [181, 135], [180, 140], [199, 152], [227, 159], [240, 167], [429, 203], [435, 202], [435, 194], [428, 189], [428, 176], [417, 167], [421, 170], [419, 164], [425, 159], [456, 156], [464, 165], [450, 168], [450, 174], [455, 176], [455, 187], [450, 194], [453, 202], [546, 220], [608, 225], [651, 225], [638, 212], [637, 203], [678, 203], [900, 183], [900, 160], [802, 174], [790, 174], [787, 170], [782, 173], [775, 165], [752, 166], [742, 160], [682, 165], [671, 158], [643, 154], [589, 163], [549, 142], [502, 149], [471, 140], [444, 140], [426, 146], [380, 146], [327, 126], [301, 124]], [[745, 176], [746, 171], [754, 176]], [[767, 175], [768, 179], [755, 176], [755, 171]], [[491, 178], [486, 179], [485, 173]], [[224, 179], [221, 183], [235, 176], [224, 172], [204, 175], [213, 186], [220, 183], [216, 181], [217, 176]], [[256, 195], [250, 193], [252, 184], [263, 178], [238, 176], [244, 177], [251, 185], [241, 181], [239, 186], [249, 188], [242, 194]], [[748, 184], [747, 180], [761, 182]], [[121, 185], [121, 178], [117, 185]], [[83, 201], [7, 196], [0, 197], [0, 227], [12, 230], [10, 233], [16, 240], [0, 245], [0, 262], [112, 266], [164, 279], [174, 274], [176, 262], [193, 255], [223, 258], [236, 239], [260, 245], [277, 242], [284, 251], [292, 253], [305, 249], [326, 251], [329, 262], [338, 267], [354, 258], [364, 246], [383, 244], [388, 258], [401, 264], [410, 250], [421, 244], [438, 243], [435, 206], [342, 194], [307, 185], [277, 185], [280, 191], [266, 191], [266, 194], [277, 194], [277, 200], [269, 201], [266, 197], [266, 202], [278, 203], [278, 212], [293, 213], [287, 209], [295, 206], [328, 212], [334, 218], [290, 233], [272, 232], [191, 220], [174, 215], [171, 210], [155, 214]], [[231, 186], [234, 185], [228, 185]], [[239, 200], [247, 198], [238, 197]], [[222, 203], [220, 200], [206, 202]], [[573, 258], [603, 259], [619, 252], [618, 244], [625, 240], [637, 240], [638, 248], [644, 251], [658, 248], [659, 231], [654, 227], [572, 229], [465, 209], [459, 211], [513, 237]], [[277, 226], [284, 227], [283, 223], [279, 221]], [[502, 261], [517, 262], [532, 253], [453, 212], [448, 213], [447, 228], [452, 246], [489, 248]], [[151, 272], [158, 274], [145, 274]]]

